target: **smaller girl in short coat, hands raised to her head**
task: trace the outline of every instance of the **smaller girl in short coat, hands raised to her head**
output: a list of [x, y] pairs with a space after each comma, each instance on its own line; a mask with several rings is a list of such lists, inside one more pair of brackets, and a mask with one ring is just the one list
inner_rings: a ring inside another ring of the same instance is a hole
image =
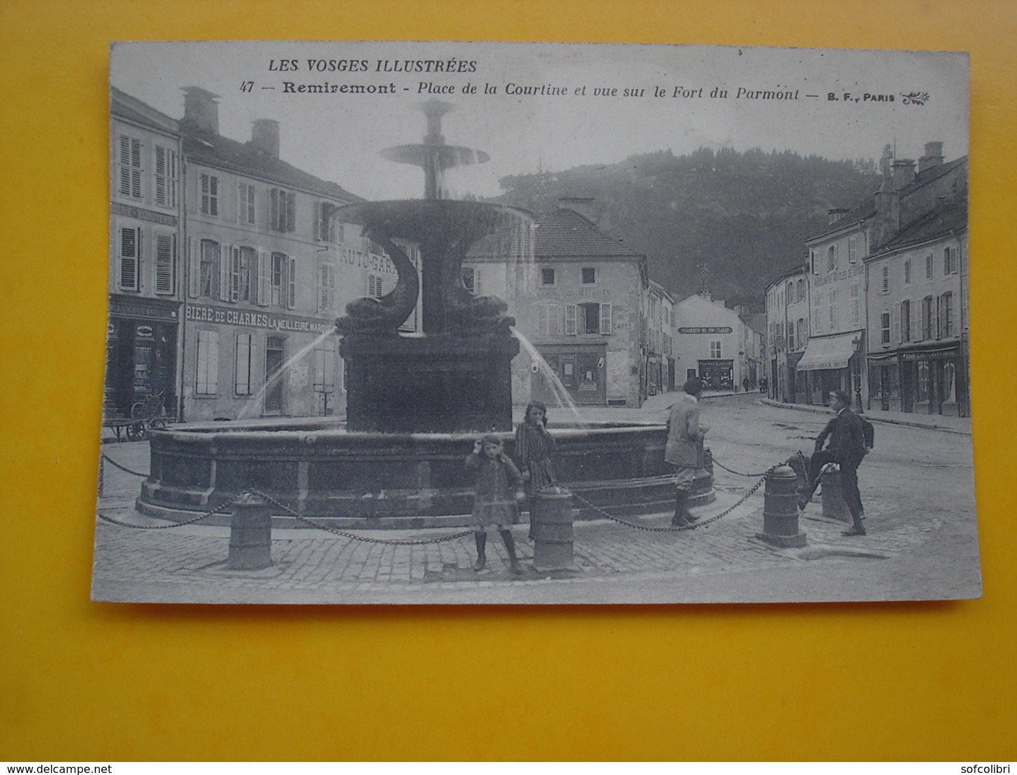
[[477, 490], [473, 497], [473, 537], [477, 542], [477, 562], [473, 570], [482, 571], [487, 565], [487, 529], [493, 525], [504, 541], [513, 573], [523, 573], [508, 529], [508, 525], [519, 522], [517, 502], [526, 498], [519, 468], [505, 455], [501, 440], [491, 435], [474, 443], [473, 453], [467, 455], [466, 467], [477, 471]]

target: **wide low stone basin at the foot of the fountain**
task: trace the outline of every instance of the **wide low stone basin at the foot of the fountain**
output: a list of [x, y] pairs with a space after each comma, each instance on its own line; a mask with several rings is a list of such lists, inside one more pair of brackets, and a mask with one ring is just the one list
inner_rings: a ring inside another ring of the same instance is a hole
[[[612, 514], [673, 506], [673, 468], [664, 462], [661, 425], [599, 423], [554, 427], [559, 481]], [[502, 433], [514, 452], [514, 434]], [[141, 487], [142, 513], [173, 520], [210, 511], [247, 489], [301, 515], [359, 528], [469, 524], [473, 479], [466, 456], [475, 434], [378, 434], [321, 421], [274, 426], [179, 427], [152, 434], [152, 469]], [[694, 494], [712, 500], [706, 471]], [[596, 518], [577, 498], [577, 516]], [[221, 515], [228, 521], [229, 515]]]

